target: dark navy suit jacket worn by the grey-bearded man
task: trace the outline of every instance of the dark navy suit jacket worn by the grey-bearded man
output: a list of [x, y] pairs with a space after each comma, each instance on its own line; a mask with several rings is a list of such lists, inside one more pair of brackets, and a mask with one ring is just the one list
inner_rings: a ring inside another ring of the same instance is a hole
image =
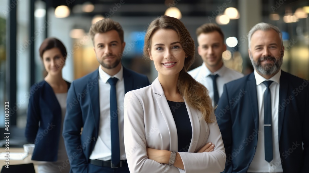
[[[285, 173], [309, 171], [308, 106], [309, 82], [281, 70], [276, 147]], [[224, 172], [246, 173], [256, 152], [259, 130], [254, 73], [224, 85], [215, 114], [226, 150]]]

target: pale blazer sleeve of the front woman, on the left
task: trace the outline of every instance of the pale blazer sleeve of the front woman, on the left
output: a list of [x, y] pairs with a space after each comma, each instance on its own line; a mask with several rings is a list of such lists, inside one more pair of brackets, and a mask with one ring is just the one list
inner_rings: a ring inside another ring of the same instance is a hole
[[125, 94], [124, 140], [130, 172], [179, 173], [174, 166], [160, 164], [148, 158], [143, 109], [141, 101], [132, 91]]

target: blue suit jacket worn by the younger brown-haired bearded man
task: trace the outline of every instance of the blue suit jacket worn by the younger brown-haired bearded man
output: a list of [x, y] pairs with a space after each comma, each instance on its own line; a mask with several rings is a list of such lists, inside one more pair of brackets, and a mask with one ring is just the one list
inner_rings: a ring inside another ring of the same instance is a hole
[[[150, 85], [145, 75], [123, 67], [125, 93]], [[99, 70], [74, 80], [68, 92], [62, 136], [70, 159], [70, 172], [87, 172], [89, 157], [99, 134]], [[109, 97], [109, 93], [106, 93]], [[81, 128], [83, 132], [81, 134]]]

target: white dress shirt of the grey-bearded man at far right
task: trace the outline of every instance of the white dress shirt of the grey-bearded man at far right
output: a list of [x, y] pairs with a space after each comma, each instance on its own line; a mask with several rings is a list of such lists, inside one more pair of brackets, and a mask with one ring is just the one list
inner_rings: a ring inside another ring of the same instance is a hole
[[[280, 86], [280, 76], [281, 70], [278, 71], [270, 79], [265, 79], [260, 74], [254, 70], [254, 76], [256, 80], [256, 94], [257, 94], [257, 103], [259, 108], [259, 129], [258, 129], [258, 138], [256, 152], [254, 154], [253, 160], [249, 166], [247, 172], [283, 172], [279, 151], [279, 86]], [[266, 86], [264, 81], [273, 81], [270, 84], [270, 97], [271, 97], [271, 112], [272, 112], [272, 131], [273, 131], [273, 160], [267, 162], [265, 160], [265, 144], [264, 144], [264, 92]]]

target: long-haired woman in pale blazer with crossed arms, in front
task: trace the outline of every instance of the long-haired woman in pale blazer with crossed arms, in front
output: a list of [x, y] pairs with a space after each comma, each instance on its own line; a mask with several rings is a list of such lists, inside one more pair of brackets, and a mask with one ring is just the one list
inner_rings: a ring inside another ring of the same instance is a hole
[[144, 55], [158, 77], [124, 101], [125, 151], [131, 173], [222, 172], [226, 154], [207, 89], [187, 70], [194, 41], [184, 24], [160, 16], [148, 27]]

